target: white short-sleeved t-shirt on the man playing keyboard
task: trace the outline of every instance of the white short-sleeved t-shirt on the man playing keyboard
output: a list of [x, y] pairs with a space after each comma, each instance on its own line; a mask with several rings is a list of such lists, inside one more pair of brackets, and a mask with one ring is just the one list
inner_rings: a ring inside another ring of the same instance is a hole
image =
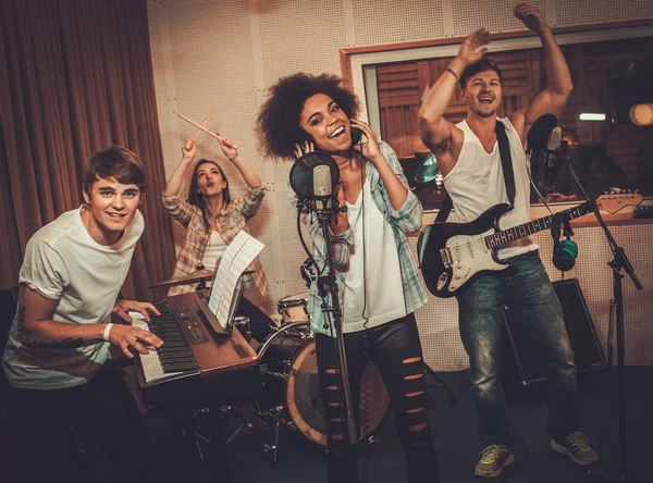
[[[95, 242], [84, 226], [82, 208], [63, 213], [27, 243], [19, 282], [59, 300], [52, 319], [71, 324], [109, 321], [143, 234], [140, 211], [112, 246]], [[16, 313], [17, 317], [17, 313]], [[14, 317], [2, 356], [7, 379], [15, 387], [56, 389], [91, 380], [109, 358], [109, 343], [78, 348], [28, 348], [17, 337]]]

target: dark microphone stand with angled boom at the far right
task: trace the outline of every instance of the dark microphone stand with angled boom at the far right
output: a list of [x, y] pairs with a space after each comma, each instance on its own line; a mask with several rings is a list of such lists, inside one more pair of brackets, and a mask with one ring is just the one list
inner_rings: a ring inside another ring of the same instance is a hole
[[571, 173], [574, 181], [580, 188], [582, 196], [590, 203], [590, 207], [591, 207], [592, 211], [594, 212], [596, 220], [599, 220], [599, 223], [601, 224], [601, 227], [603, 228], [603, 232], [605, 233], [605, 237], [607, 238], [607, 243], [613, 252], [613, 260], [611, 262], [608, 262], [608, 265], [613, 270], [613, 280], [614, 280], [613, 289], [614, 289], [616, 314], [617, 314], [616, 323], [617, 323], [617, 401], [618, 401], [618, 406], [619, 406], [619, 413], [618, 413], [619, 414], [619, 473], [618, 473], [618, 476], [616, 480], [612, 480], [592, 469], [587, 469], [586, 474], [589, 476], [596, 476], [605, 482], [613, 482], [613, 481], [617, 482], [617, 483], [633, 482], [634, 480], [633, 480], [632, 472], [628, 469], [628, 466], [627, 466], [627, 456], [628, 455], [626, 453], [626, 377], [625, 377], [625, 370], [624, 370], [625, 369], [624, 361], [625, 361], [625, 348], [626, 347], [625, 347], [625, 342], [624, 342], [624, 290], [623, 290], [623, 286], [621, 286], [621, 278], [624, 278], [626, 275], [624, 275], [621, 272], [624, 271], [624, 272], [626, 272], [626, 274], [628, 276], [630, 276], [630, 278], [632, 280], [632, 283], [634, 284], [634, 286], [638, 290], [641, 290], [643, 288], [643, 285], [641, 284], [641, 282], [637, 277], [637, 275], [634, 274], [634, 269], [632, 268], [630, 260], [628, 260], [628, 257], [626, 256], [626, 251], [624, 251], [624, 248], [621, 248], [617, 245], [617, 242], [613, 237], [611, 231], [608, 230], [607, 225], [605, 224], [605, 221], [601, 216], [601, 212], [599, 211], [596, 201], [589, 197], [582, 183], [580, 182], [580, 179], [578, 178], [578, 176], [571, 169], [571, 162], [570, 162], [569, 157], [563, 156], [562, 159], [563, 159], [563, 162], [564, 162], [565, 166], [567, 168], [567, 170], [569, 170], [569, 173]]

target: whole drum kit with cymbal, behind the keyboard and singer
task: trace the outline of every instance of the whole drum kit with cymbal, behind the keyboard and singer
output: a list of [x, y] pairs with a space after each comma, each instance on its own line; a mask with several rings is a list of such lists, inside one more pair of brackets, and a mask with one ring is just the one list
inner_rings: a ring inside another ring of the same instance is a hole
[[[152, 285], [150, 288], [168, 288], [176, 285], [199, 284], [197, 289], [206, 288], [206, 283], [213, 277], [211, 270], [197, 270], [188, 275], [167, 280]], [[252, 405], [255, 417], [266, 425], [273, 428], [274, 441], [266, 441], [266, 450], [273, 451], [273, 462], [276, 462], [280, 433], [283, 426], [288, 426], [294, 434], [299, 435], [309, 444], [326, 449], [326, 424], [324, 420], [318, 367], [316, 358], [316, 342], [310, 334], [310, 314], [308, 312], [308, 292], [301, 292], [282, 298], [278, 304], [281, 324], [273, 326], [270, 335], [256, 348], [261, 373], [263, 374], [263, 394]], [[237, 327], [247, 342], [250, 342], [249, 319], [243, 315], [234, 317]], [[367, 405], [366, 428], [360, 429], [360, 441], [372, 443], [373, 433], [386, 419], [390, 409], [390, 398], [373, 362], [368, 362], [364, 377], [369, 384], [362, 384], [368, 391], [367, 397], [360, 395], [361, 408]], [[361, 391], [362, 391], [361, 387]], [[242, 424], [227, 439], [227, 444], [244, 428], [251, 429], [246, 418], [236, 408], [227, 408], [241, 419]], [[367, 430], [367, 432], [365, 431]], [[367, 433], [367, 434], [366, 434]]]

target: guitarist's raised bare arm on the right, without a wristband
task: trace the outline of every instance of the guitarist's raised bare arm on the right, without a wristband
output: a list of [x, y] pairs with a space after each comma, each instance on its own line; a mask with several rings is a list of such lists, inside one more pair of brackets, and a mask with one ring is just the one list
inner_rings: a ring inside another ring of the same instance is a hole
[[[530, 125], [535, 122], [542, 114], [551, 113], [559, 116], [565, 108], [567, 100], [574, 89], [571, 83], [571, 74], [567, 66], [565, 55], [560, 51], [551, 28], [538, 9], [534, 9], [525, 3], [515, 5], [515, 16], [519, 18], [523, 25], [533, 30], [542, 41], [544, 50], [544, 64], [546, 70], [546, 79], [549, 86], [540, 92], [531, 102], [530, 107], [525, 111], [517, 111], [510, 116], [510, 121], [518, 128], [522, 136], [526, 136]], [[522, 128], [519, 127], [520, 124]]]

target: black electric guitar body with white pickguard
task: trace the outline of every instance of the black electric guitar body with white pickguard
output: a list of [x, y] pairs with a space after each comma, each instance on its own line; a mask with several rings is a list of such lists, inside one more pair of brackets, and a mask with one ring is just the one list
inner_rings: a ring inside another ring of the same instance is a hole
[[454, 297], [482, 273], [509, 267], [498, 260], [497, 250], [488, 248], [483, 238], [500, 231], [500, 218], [512, 208], [495, 205], [470, 223], [434, 223], [422, 231], [418, 255], [431, 294]]

